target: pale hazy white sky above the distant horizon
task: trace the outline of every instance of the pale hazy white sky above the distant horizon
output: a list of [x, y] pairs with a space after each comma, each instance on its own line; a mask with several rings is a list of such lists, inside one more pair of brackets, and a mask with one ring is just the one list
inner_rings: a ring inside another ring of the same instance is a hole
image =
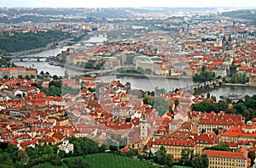
[[0, 7], [256, 7], [255, 0], [0, 0]]

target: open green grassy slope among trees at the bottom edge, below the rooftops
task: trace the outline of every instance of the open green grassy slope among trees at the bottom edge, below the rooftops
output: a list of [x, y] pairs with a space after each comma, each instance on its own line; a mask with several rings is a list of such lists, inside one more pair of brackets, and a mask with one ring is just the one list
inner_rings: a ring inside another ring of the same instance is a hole
[[[85, 162], [90, 167], [95, 168], [113, 168], [113, 167], [121, 167], [121, 168], [131, 168], [131, 167], [157, 167], [148, 163], [147, 161], [134, 160], [128, 157], [119, 156], [115, 154], [90, 154], [86, 155], [83, 158]], [[67, 159], [72, 160], [72, 158]]]

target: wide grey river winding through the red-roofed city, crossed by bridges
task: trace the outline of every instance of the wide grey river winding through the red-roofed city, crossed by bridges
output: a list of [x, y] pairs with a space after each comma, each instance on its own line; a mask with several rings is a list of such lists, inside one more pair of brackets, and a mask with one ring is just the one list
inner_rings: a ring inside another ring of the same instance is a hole
[[[52, 56], [57, 55], [58, 53], [61, 53], [63, 50], [67, 50], [69, 47], [63, 47], [63, 48], [55, 48], [50, 49], [47, 51], [39, 52], [39, 53], [31, 53], [28, 54], [29, 56]], [[20, 66], [26, 66], [26, 67], [33, 67], [38, 69], [38, 73], [40, 73], [42, 70], [44, 72], [49, 72], [51, 76], [57, 75], [57, 76], [64, 76], [65, 71], [68, 72], [69, 76], [75, 76], [75, 75], [81, 75], [83, 74], [82, 71], [79, 70], [71, 70], [67, 67], [61, 67], [61, 66], [54, 66], [49, 65], [48, 62], [44, 61], [45, 59], [40, 59], [40, 62], [37, 62], [36, 59], [24, 59], [23, 62], [20, 62], [20, 59], [13, 59], [12, 61]], [[173, 79], [166, 79], [166, 78], [150, 78], [147, 77], [136, 77], [136, 76], [123, 76], [121, 78], [116, 78], [116, 76], [102, 76], [102, 81], [109, 82], [113, 80], [119, 80], [122, 83], [131, 82], [131, 88], [136, 89], [143, 89], [145, 91], [148, 90], [154, 90], [154, 87], [159, 88], [165, 88], [167, 91], [172, 91], [176, 88], [180, 87], [186, 87], [191, 84], [193, 84], [192, 78], [190, 79], [183, 79], [183, 80], [173, 80]], [[216, 96], [219, 98], [219, 96], [227, 93], [239, 93], [241, 95], [253, 95], [256, 94], [256, 87], [231, 87], [231, 86], [223, 86], [218, 87], [212, 91], [210, 91], [211, 95]]]

